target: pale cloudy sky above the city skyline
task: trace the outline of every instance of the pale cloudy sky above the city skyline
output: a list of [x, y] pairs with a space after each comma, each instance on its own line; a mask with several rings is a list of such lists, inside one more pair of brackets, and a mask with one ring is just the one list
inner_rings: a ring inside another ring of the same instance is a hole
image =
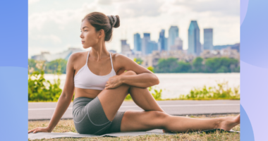
[[200, 42], [204, 43], [204, 28], [213, 28], [213, 44], [240, 42], [239, 0], [29, 0], [28, 58], [49, 51], [66, 51], [69, 47], [83, 49], [80, 39], [82, 18], [91, 12], [118, 15], [120, 27], [114, 28], [108, 50], [121, 52], [121, 39], [134, 48], [134, 34], [151, 34], [157, 42], [164, 29], [169, 35], [171, 25], [178, 26], [183, 49], [188, 49], [188, 27], [197, 20]]

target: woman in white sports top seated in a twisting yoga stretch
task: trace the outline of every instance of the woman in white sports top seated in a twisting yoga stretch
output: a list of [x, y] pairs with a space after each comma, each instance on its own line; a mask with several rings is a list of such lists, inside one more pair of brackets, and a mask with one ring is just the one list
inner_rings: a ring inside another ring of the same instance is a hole
[[[118, 16], [99, 12], [83, 18], [80, 28], [83, 48], [92, 49], [70, 56], [63, 92], [49, 125], [28, 133], [51, 132], [71, 103], [73, 92], [73, 121], [81, 134], [152, 129], [178, 133], [214, 128], [231, 130], [240, 123], [240, 115], [198, 119], [166, 114], [147, 90], [159, 84], [157, 76], [128, 57], [107, 51], [105, 42], [111, 39], [112, 27], [119, 25]], [[145, 111], [118, 111], [127, 94]]]

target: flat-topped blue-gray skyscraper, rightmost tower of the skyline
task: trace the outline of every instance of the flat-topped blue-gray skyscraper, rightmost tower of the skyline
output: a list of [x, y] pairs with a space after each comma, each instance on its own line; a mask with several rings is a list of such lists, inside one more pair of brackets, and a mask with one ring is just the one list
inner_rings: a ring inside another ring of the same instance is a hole
[[213, 29], [204, 29], [204, 49], [213, 50]]

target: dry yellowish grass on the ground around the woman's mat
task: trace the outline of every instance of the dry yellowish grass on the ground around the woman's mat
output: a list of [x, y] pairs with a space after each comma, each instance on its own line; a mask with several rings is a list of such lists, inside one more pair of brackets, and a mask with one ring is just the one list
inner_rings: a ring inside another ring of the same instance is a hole
[[[224, 114], [224, 115], [201, 115], [201, 116], [189, 116], [190, 118], [219, 118], [224, 116], [237, 116], [237, 114]], [[29, 121], [28, 122], [28, 130], [36, 127], [47, 127], [49, 121]], [[233, 130], [240, 131], [240, 125], [236, 125]], [[66, 132], [74, 132], [77, 133], [75, 130], [75, 126], [73, 124], [73, 120], [61, 120], [56, 125], [54, 133], [66, 133]], [[83, 137], [83, 138], [58, 138], [58, 139], [42, 139], [42, 140], [49, 140], [49, 141], [78, 141], [78, 140], [240, 140], [239, 133], [178, 133], [176, 135], [140, 135], [136, 137]]]

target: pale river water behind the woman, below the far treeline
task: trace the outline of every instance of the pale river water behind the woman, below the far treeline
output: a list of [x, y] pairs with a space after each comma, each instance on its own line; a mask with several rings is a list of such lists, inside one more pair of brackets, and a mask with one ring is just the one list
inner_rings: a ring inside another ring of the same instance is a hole
[[[159, 85], [154, 88], [162, 89], [162, 99], [176, 98], [180, 94], [188, 94], [194, 87], [201, 88], [204, 85], [216, 86], [217, 82], [228, 81], [229, 87], [240, 85], [240, 73], [155, 73], [159, 78]], [[44, 78], [54, 82], [57, 78], [53, 74], [45, 74]], [[61, 89], [66, 80], [66, 74], [60, 76]], [[217, 82], [216, 82], [217, 81]]]

